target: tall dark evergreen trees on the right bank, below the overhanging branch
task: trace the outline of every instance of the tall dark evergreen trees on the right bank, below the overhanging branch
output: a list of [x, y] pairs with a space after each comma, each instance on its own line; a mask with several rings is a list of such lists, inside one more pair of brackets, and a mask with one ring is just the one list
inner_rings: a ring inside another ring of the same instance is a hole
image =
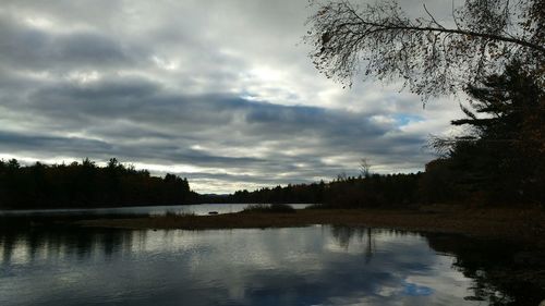
[[471, 128], [461, 137], [435, 139], [433, 145], [448, 159], [436, 164], [456, 172], [450, 181], [458, 191], [465, 185], [494, 201], [545, 200], [544, 88], [514, 63], [467, 91], [467, 117], [452, 124]]

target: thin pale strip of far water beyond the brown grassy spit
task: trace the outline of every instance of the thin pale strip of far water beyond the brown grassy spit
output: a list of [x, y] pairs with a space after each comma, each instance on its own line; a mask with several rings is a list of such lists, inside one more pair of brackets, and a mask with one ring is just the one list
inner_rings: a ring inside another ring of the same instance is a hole
[[[291, 204], [293, 208], [305, 208], [310, 204]], [[172, 206], [134, 206], [118, 208], [81, 208], [81, 209], [26, 209], [0, 210], [0, 216], [77, 216], [77, 215], [146, 215], [161, 216], [167, 212], [193, 212], [204, 216], [210, 211], [218, 213], [238, 212], [247, 204], [201, 204], [201, 205], [172, 205]]]

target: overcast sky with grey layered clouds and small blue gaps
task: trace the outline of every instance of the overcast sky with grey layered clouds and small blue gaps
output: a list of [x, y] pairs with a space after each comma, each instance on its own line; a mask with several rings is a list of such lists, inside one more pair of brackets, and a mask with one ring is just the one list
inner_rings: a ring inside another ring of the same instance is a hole
[[[426, 0], [402, 1], [413, 13]], [[443, 17], [451, 2], [427, 0]], [[443, 8], [444, 7], [444, 8]], [[201, 193], [422, 170], [455, 98], [319, 74], [306, 0], [0, 5], [0, 158], [117, 157]]]

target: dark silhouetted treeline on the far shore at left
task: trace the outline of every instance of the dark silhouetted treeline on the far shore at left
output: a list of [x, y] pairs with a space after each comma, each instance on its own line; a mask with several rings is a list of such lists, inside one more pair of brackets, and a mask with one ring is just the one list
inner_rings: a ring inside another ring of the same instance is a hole
[[70, 164], [22, 167], [0, 160], [0, 208], [70, 208], [174, 205], [194, 200], [186, 179], [149, 175], [110, 159], [98, 167], [85, 159]]

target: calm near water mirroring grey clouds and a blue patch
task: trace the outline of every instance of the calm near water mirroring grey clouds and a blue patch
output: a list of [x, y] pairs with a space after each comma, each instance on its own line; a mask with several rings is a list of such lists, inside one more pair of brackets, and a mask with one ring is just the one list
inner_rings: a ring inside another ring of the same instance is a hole
[[[452, 245], [473, 245], [472, 257], [484, 252], [481, 243], [468, 238], [326, 225], [0, 233], [0, 305], [488, 305], [491, 296], [513, 301], [483, 279], [486, 272], [479, 266], [465, 267], [469, 259], [457, 257]], [[494, 247], [486, 249], [496, 254]]]

